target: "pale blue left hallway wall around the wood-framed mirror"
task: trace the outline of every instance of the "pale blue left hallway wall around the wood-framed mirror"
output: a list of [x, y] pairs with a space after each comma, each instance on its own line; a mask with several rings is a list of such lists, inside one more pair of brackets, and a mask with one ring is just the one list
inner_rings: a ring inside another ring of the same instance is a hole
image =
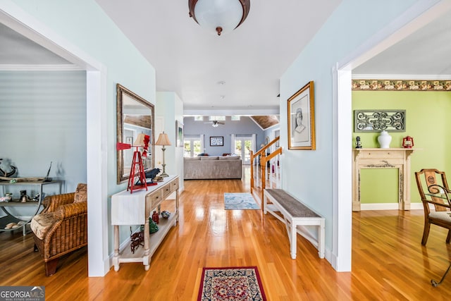
[[[78, 47], [80, 51], [105, 67], [106, 82], [101, 94], [106, 95], [106, 106], [102, 108], [106, 116], [106, 149], [102, 149], [102, 154], [107, 156], [108, 162], [107, 193], [113, 195], [125, 189], [126, 183], [116, 184], [116, 83], [120, 83], [148, 102], [155, 104], [156, 83], [153, 66], [144, 59], [94, 0], [17, 0], [13, 1], [13, 4], [48, 27], [54, 35], [58, 36], [58, 39]], [[107, 202], [109, 216], [110, 197], [91, 202]], [[109, 254], [111, 254], [113, 252], [111, 226], [108, 233]], [[124, 229], [120, 240], [128, 238], [128, 235], [130, 235], [128, 229]], [[107, 261], [105, 258], [102, 259]]]

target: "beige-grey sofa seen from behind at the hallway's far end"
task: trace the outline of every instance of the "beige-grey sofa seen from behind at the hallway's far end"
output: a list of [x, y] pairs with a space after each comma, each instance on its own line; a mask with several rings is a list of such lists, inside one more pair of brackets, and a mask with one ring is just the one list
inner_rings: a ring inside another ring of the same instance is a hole
[[185, 180], [241, 179], [240, 156], [195, 156], [183, 160]]

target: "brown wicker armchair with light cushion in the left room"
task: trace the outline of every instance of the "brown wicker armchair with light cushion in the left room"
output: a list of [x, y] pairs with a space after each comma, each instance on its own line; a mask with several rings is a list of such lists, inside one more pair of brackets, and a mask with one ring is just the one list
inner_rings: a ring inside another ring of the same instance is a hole
[[87, 245], [87, 185], [44, 199], [45, 209], [31, 221], [35, 252], [44, 258], [46, 276], [56, 272], [59, 257]]

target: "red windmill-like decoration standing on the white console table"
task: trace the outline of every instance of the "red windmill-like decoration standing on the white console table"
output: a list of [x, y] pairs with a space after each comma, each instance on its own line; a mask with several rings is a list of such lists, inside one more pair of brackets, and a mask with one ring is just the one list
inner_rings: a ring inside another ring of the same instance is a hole
[[[118, 142], [116, 144], [116, 149], [130, 149], [131, 147], [136, 147], [135, 152], [133, 152], [132, 167], [130, 168], [130, 176], [128, 176], [128, 187], [130, 193], [133, 190], [145, 188], [147, 190], [147, 180], [144, 173], [144, 165], [142, 164], [142, 158], [147, 158], [147, 148], [149, 147], [149, 135], [144, 133], [138, 134], [135, 143], [133, 145], [128, 145], [127, 143]], [[142, 148], [142, 153], [140, 152]], [[139, 184], [138, 184], [139, 183]]]

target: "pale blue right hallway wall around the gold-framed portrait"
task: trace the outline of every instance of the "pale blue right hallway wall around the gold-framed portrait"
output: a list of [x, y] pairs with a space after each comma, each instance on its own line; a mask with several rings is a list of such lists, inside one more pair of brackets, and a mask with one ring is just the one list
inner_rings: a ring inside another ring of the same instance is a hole
[[343, 1], [280, 79], [281, 125], [287, 124], [286, 100], [314, 81], [316, 150], [288, 150], [287, 129], [281, 126], [281, 164], [283, 179], [290, 179], [283, 188], [326, 218], [326, 249], [332, 249], [333, 235], [332, 68], [415, 2]]

